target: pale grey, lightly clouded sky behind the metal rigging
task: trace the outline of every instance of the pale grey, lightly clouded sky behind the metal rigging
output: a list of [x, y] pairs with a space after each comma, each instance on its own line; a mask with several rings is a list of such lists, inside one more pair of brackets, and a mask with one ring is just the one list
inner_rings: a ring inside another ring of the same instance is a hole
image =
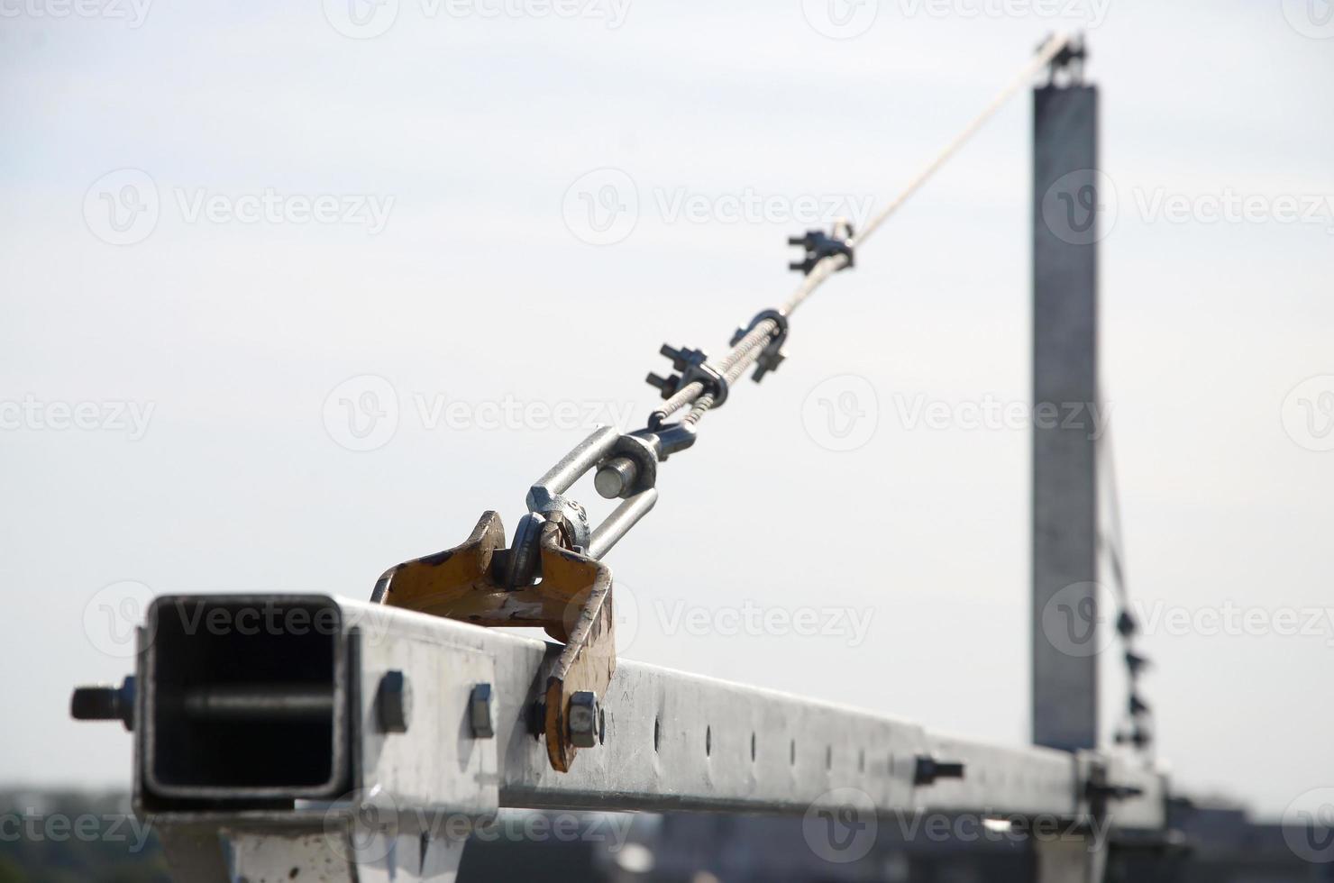
[[[643, 420], [664, 340], [716, 349], [786, 296], [803, 212], [883, 204], [1046, 33], [1097, 21], [1103, 376], [1161, 754], [1270, 814], [1334, 786], [1334, 24], [880, 0], [832, 39], [814, 1], [538, 8], [400, 0], [358, 39], [334, 0], [0, 7], [0, 780], [128, 784], [128, 738], [67, 719], [72, 684], [128, 670], [104, 587], [364, 596], [486, 508], [512, 527], [571, 420]], [[1027, 433], [966, 415], [1029, 397], [1029, 127], [1021, 96], [664, 467], [610, 559], [627, 655], [1027, 738]], [[151, 232], [107, 227], [127, 168]], [[596, 169], [638, 196], [604, 245]], [[367, 381], [331, 391], [368, 375], [398, 421], [358, 452]], [[878, 420], [834, 451], [848, 392]], [[720, 634], [747, 604], [864, 627]]]

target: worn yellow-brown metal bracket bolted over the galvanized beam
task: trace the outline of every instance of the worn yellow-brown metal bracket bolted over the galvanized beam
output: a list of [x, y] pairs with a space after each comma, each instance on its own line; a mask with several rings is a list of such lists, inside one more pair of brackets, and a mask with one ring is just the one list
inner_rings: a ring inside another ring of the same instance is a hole
[[616, 670], [611, 568], [560, 544], [560, 528], [544, 524], [538, 543], [542, 579], [504, 588], [491, 578], [491, 562], [506, 547], [504, 526], [486, 512], [472, 535], [444, 552], [392, 567], [375, 584], [374, 599], [475, 626], [531, 626], [566, 644], [547, 678], [547, 756], [568, 772], [578, 748], [570, 740], [570, 699], [591, 691], [602, 699]]

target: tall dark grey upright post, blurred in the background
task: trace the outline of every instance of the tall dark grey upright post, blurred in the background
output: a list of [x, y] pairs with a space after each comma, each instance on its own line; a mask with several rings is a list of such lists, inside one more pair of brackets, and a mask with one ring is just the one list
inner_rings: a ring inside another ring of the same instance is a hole
[[[1098, 91], [1034, 93], [1033, 740], [1098, 743]], [[1111, 196], [1111, 195], [1106, 195]]]

